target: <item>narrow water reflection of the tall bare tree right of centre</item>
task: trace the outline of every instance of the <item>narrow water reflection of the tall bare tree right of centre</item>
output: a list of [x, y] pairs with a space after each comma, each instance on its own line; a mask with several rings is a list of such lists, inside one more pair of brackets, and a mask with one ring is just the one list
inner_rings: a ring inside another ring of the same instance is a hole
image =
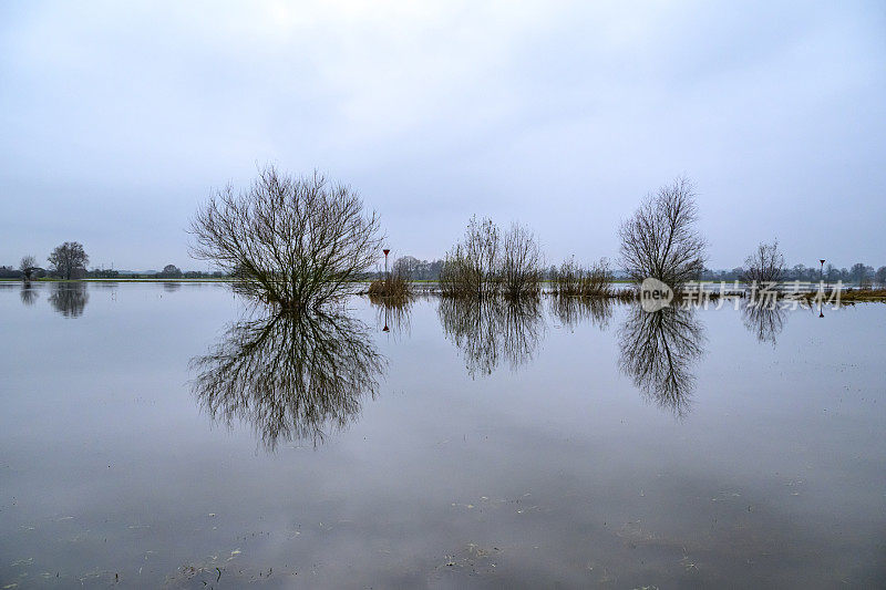
[[704, 342], [694, 310], [669, 307], [650, 313], [633, 306], [618, 337], [619, 368], [635, 385], [678, 416], [689, 412], [696, 385], [692, 366]]

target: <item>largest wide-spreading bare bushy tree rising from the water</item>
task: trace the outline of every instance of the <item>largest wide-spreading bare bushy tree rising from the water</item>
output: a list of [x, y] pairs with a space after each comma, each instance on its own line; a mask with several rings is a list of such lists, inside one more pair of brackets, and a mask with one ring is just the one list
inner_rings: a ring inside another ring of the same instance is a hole
[[364, 213], [349, 186], [274, 166], [245, 190], [218, 190], [198, 209], [190, 234], [192, 256], [238, 278], [241, 292], [288, 310], [353, 292], [383, 238], [378, 216]]

